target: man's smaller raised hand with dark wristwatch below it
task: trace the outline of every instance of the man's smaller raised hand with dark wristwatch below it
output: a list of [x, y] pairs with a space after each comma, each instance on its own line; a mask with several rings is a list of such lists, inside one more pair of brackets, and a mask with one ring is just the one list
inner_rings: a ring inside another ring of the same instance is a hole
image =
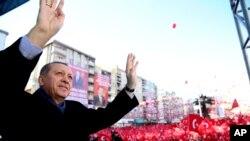
[[135, 55], [129, 53], [126, 64], [126, 77], [127, 77], [127, 86], [130, 89], [135, 89], [137, 84], [137, 74], [136, 74], [137, 65], [138, 61], [136, 61]]

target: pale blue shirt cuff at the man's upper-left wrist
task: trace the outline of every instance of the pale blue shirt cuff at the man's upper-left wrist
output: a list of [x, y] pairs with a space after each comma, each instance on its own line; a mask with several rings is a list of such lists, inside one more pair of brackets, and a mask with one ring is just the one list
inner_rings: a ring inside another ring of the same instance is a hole
[[22, 37], [19, 50], [22, 55], [29, 60], [32, 60], [43, 51], [42, 48], [33, 45], [27, 35]]

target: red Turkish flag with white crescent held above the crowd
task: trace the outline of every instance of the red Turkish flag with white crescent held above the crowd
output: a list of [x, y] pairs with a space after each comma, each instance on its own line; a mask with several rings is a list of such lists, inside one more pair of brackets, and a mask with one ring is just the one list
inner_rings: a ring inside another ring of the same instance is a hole
[[198, 127], [203, 121], [203, 118], [197, 114], [189, 114], [188, 115], [188, 128], [189, 131], [198, 131]]

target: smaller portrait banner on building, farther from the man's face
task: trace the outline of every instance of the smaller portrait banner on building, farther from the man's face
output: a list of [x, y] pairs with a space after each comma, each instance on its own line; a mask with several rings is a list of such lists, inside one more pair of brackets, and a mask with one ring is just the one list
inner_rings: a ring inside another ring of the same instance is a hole
[[110, 76], [102, 73], [95, 73], [94, 81], [94, 105], [105, 107], [108, 103]]

